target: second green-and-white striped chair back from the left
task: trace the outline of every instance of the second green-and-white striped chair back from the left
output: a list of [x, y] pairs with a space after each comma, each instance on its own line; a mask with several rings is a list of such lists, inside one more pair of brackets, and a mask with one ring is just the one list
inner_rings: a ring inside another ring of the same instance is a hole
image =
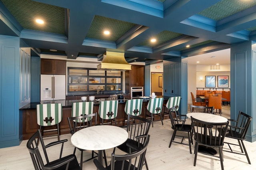
[[[93, 113], [93, 104], [94, 104], [93, 101], [73, 103], [72, 104], [72, 117], [92, 114]], [[90, 121], [90, 120], [91, 120], [91, 117], [88, 117], [88, 121]], [[78, 120], [74, 120], [74, 121], [78, 122]]]

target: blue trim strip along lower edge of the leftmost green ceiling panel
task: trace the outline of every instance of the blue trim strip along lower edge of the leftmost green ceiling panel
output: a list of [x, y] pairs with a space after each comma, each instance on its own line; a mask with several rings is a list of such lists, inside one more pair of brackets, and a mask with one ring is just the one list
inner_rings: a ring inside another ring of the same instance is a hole
[[22, 30], [20, 38], [31, 40], [42, 40], [48, 42], [68, 43], [68, 38], [62, 34], [40, 32], [35, 30]]

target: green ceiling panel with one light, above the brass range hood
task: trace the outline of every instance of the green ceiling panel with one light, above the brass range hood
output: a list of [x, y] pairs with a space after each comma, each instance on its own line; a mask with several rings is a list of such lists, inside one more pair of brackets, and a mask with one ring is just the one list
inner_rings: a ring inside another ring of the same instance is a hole
[[[94, 16], [92, 24], [90, 25], [86, 38], [115, 42], [134, 26], [135, 24], [130, 22], [124, 22], [96, 15]], [[110, 34], [104, 35], [103, 32], [105, 30], [108, 30]]]

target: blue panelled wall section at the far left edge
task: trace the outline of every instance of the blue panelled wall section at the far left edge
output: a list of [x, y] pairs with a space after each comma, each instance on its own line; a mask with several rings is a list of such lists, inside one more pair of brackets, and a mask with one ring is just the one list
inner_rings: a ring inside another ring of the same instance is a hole
[[0, 35], [0, 148], [22, 140], [19, 116], [20, 38]]

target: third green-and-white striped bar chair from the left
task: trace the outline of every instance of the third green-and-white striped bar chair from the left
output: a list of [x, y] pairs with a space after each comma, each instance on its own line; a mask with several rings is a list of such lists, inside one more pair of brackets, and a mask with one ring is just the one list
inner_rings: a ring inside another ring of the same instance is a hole
[[116, 125], [117, 110], [118, 100], [101, 101], [99, 106], [99, 115], [102, 119], [102, 125], [104, 120], [110, 120], [111, 125], [112, 120], [114, 120]]

